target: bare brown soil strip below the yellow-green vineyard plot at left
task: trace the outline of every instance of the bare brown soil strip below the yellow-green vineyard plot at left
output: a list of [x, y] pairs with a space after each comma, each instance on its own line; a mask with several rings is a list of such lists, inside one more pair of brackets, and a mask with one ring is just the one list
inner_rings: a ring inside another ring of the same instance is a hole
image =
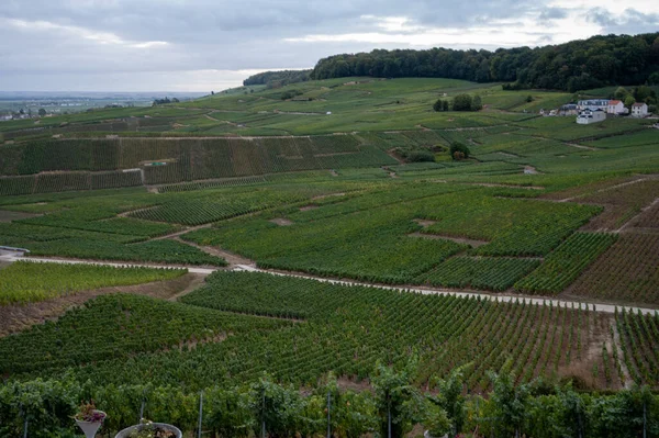
[[199, 274], [187, 273], [175, 280], [155, 281], [146, 284], [101, 288], [81, 291], [71, 295], [25, 305], [0, 306], [0, 337], [21, 332], [46, 321], [57, 319], [71, 307], [79, 306], [99, 295], [109, 293], [133, 293], [158, 299], [169, 299], [198, 281]]

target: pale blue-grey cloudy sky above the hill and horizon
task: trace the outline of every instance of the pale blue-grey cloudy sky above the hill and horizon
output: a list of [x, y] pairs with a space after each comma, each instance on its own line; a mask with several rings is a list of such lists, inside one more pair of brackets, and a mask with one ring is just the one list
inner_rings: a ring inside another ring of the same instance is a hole
[[208, 92], [337, 53], [657, 31], [657, 0], [0, 0], [0, 90]]

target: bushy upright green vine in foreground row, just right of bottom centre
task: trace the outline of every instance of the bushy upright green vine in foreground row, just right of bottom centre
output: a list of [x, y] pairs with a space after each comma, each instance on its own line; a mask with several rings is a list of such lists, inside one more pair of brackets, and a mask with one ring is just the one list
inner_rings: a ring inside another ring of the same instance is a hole
[[413, 358], [404, 370], [396, 372], [380, 362], [371, 379], [376, 390], [376, 407], [380, 420], [380, 436], [402, 438], [412, 426], [427, 419], [427, 401], [412, 384], [417, 360]]

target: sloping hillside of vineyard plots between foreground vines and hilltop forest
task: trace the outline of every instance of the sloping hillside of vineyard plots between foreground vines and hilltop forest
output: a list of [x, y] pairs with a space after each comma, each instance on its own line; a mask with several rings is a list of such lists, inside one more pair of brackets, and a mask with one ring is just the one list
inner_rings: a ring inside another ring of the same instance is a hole
[[80, 394], [192, 431], [200, 391], [368, 394], [411, 358], [467, 397], [659, 390], [659, 130], [537, 113], [570, 99], [343, 78], [0, 124], [0, 431], [70, 434]]

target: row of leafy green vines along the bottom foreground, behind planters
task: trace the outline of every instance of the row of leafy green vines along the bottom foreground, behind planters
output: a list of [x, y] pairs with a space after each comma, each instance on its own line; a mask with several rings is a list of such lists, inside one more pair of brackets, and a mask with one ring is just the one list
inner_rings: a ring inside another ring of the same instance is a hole
[[[5, 383], [0, 386], [3, 437], [77, 435], [71, 417], [92, 400], [108, 414], [102, 436], [137, 423], [139, 414], [186, 433], [212, 437], [266, 436], [402, 438], [416, 425], [431, 437], [473, 433], [474, 437], [636, 438], [659, 434], [659, 398], [647, 386], [612, 395], [579, 393], [571, 384], [515, 385], [512, 374], [490, 374], [492, 390], [463, 394], [461, 371], [433, 379], [431, 392], [414, 384], [413, 368], [378, 366], [365, 391], [342, 390], [330, 374], [304, 394], [267, 374], [236, 388], [186, 393], [179, 386], [98, 385], [71, 380]], [[27, 431], [25, 431], [27, 430]], [[261, 435], [263, 434], [263, 435]]]

